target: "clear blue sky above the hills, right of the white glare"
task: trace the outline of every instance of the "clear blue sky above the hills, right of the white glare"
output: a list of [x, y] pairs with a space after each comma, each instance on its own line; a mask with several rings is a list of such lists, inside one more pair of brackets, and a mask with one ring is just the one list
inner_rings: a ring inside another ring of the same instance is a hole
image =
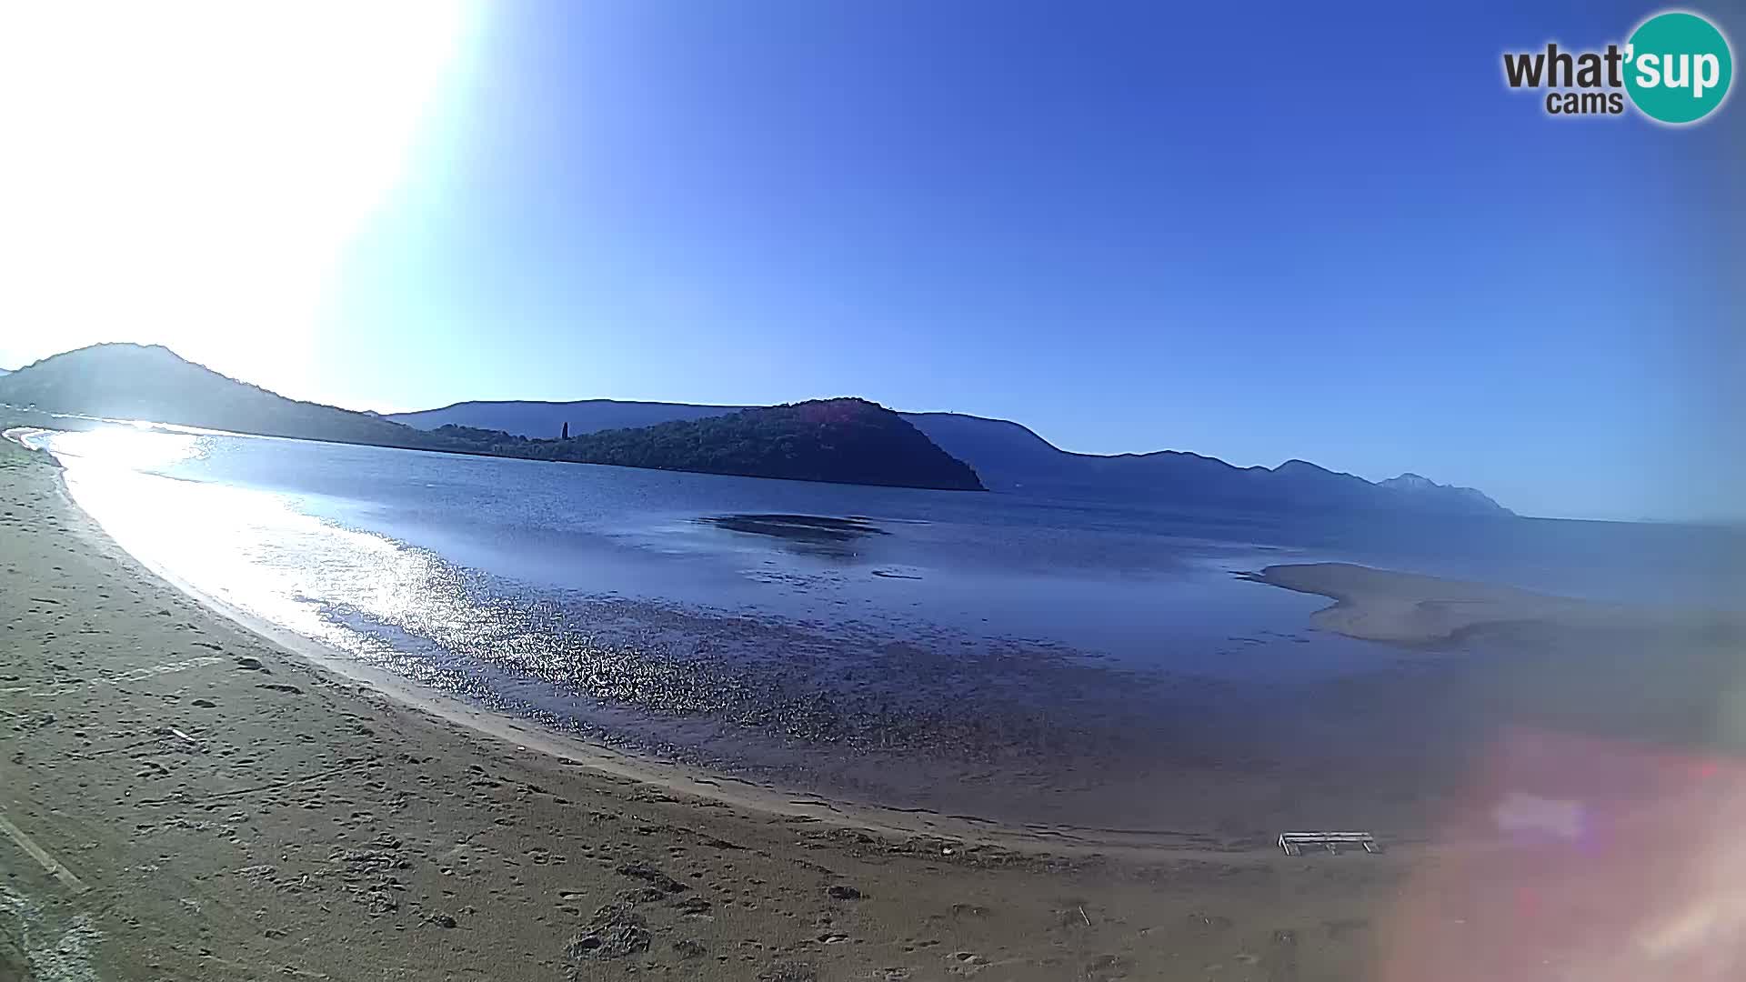
[[164, 339], [382, 409], [849, 393], [1529, 514], [1741, 515], [1746, 110], [1549, 119], [1502, 82], [1505, 49], [1655, 9], [477, 7], [295, 320], [239, 301], [0, 363]]

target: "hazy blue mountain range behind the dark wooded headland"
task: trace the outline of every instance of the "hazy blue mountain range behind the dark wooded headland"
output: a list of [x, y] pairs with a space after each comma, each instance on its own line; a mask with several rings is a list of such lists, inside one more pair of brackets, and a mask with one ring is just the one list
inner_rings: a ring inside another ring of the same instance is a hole
[[[583, 435], [608, 428], [707, 419], [737, 405], [683, 402], [457, 402], [442, 409], [386, 416], [419, 428], [442, 425], [506, 430], [522, 437]], [[1437, 484], [1418, 474], [1369, 482], [1308, 461], [1280, 467], [1233, 467], [1219, 458], [1156, 451], [1147, 454], [1076, 454], [1007, 419], [959, 412], [903, 412], [948, 454], [971, 465], [993, 491], [1062, 498], [1152, 498], [1194, 507], [1264, 510], [1386, 510], [1461, 515], [1510, 515], [1472, 488]]]

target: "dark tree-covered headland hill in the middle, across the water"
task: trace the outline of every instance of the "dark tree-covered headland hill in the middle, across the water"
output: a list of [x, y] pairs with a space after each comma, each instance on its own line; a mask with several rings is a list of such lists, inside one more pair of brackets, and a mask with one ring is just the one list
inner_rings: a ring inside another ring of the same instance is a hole
[[515, 456], [983, 491], [969, 465], [939, 449], [903, 416], [864, 398], [796, 402], [636, 430], [599, 430], [567, 440], [529, 440], [517, 444]]

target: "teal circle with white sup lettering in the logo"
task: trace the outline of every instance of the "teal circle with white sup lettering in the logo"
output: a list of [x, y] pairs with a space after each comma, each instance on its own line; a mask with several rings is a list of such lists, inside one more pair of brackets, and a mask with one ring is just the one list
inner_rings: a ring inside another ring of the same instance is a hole
[[1732, 80], [1729, 38], [1697, 14], [1655, 14], [1626, 44], [1626, 91], [1650, 119], [1697, 122], [1722, 105]]

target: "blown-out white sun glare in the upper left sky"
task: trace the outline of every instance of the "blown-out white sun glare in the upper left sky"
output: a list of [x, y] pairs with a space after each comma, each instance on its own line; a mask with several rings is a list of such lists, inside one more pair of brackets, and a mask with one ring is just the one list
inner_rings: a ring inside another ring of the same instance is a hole
[[0, 9], [0, 356], [157, 341], [295, 390], [471, 21], [464, 0]]

